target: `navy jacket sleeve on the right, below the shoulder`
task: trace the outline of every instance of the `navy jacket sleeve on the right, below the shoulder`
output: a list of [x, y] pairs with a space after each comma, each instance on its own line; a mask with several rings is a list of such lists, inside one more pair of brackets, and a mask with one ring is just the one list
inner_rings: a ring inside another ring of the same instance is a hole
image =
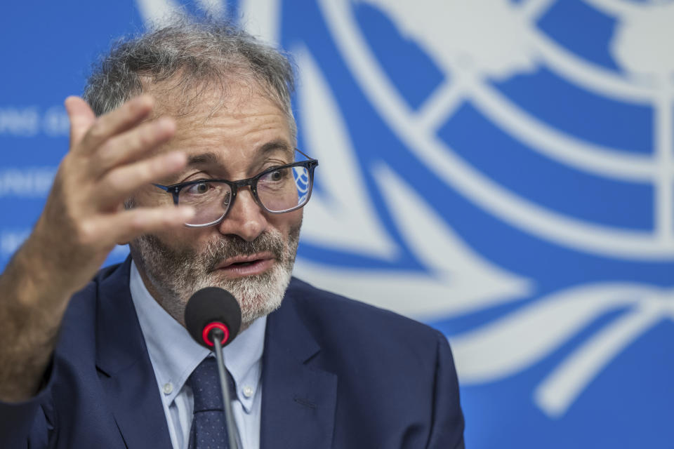
[[433, 419], [430, 429], [429, 449], [463, 449], [463, 412], [458, 397], [458, 378], [454, 358], [447, 338], [437, 333], [437, 363]]

